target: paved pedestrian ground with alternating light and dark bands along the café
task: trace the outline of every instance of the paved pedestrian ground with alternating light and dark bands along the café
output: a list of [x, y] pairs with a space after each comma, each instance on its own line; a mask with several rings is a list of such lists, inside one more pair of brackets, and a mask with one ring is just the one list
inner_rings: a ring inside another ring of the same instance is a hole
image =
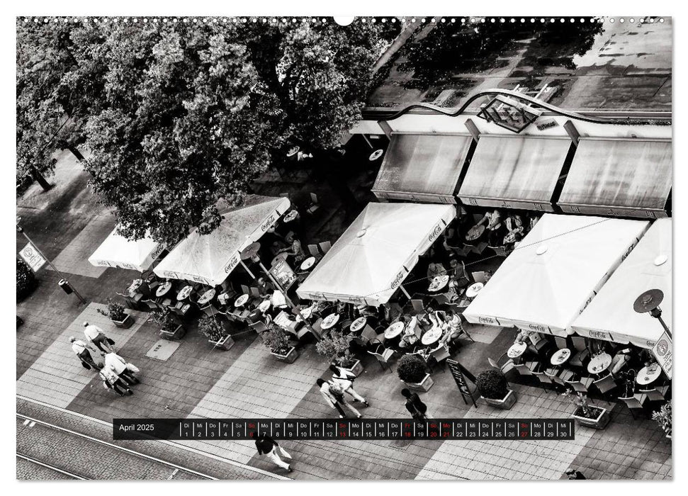
[[[57, 287], [57, 274], [46, 270], [38, 274], [40, 286], [36, 291], [18, 303], [18, 315], [23, 317], [25, 324], [17, 331], [16, 384], [18, 395], [28, 398], [18, 399], [18, 412], [30, 416], [27, 412], [38, 415], [36, 411], [40, 410], [40, 415], [52, 419], [52, 423], [91, 436], [97, 434], [102, 439], [111, 439], [107, 422], [115, 417], [333, 416], [333, 410], [325, 405], [315, 385], [317, 378], [327, 377], [327, 363], [316, 354], [313, 344], [305, 344], [297, 361], [286, 364], [273, 359], [253, 333], [237, 335], [232, 349], [219, 351], [211, 349], [191, 325], [179, 349], [167, 361], [157, 361], [145, 356], [159, 339], [156, 327], [147, 322], [145, 312], [134, 314], [135, 325], [130, 329], [116, 329], [106, 322], [96, 312], [98, 305], [106, 303], [115, 291], [122, 291], [137, 273], [106, 269], [95, 274], [84, 269], [88, 261], [79, 259], [81, 255], [77, 252], [84, 254], [96, 249], [107, 232], [103, 227], [88, 231], [94, 233], [92, 236], [79, 237], [79, 233], [92, 222], [102, 223], [105, 213], [98, 210], [90, 193], [84, 192], [86, 181], [83, 174], [72, 172], [71, 176], [66, 173], [62, 176], [68, 184], [57, 188], [59, 191], [46, 193], [51, 195], [50, 201], [43, 201], [43, 197], [34, 192], [28, 199], [18, 201], [18, 210], [24, 215], [23, 226], [49, 257], [59, 258], [64, 250], [67, 254], [72, 253], [70, 257], [74, 263], [71, 267], [74, 269], [69, 270], [79, 274], [68, 273], [67, 276], [89, 304], [79, 305], [73, 295], [65, 295]], [[365, 176], [361, 172], [359, 179], [365, 179]], [[303, 180], [298, 182], [295, 176], [289, 177], [293, 182], [264, 182], [259, 193], [278, 194], [285, 188], [303, 192], [307, 188]], [[317, 191], [323, 195], [325, 206], [309, 225], [306, 239], [308, 242], [311, 239], [334, 241], [337, 230], [341, 232], [355, 209], [343, 209], [333, 196], [321, 193], [327, 191], [326, 186], [317, 181], [312, 184], [320, 188]], [[358, 201], [365, 201], [364, 191], [356, 188], [353, 191]], [[84, 205], [89, 205], [89, 208], [84, 209]], [[74, 250], [72, 242], [77, 237], [79, 249]], [[25, 243], [18, 237], [18, 249]], [[69, 257], [62, 254], [62, 259]], [[86, 318], [98, 322], [107, 334], [112, 334], [120, 354], [141, 368], [142, 383], [134, 387], [133, 396], [120, 398], [104, 389], [96, 380], [95, 373], [82, 368], [73, 356], [67, 338], [81, 332], [80, 324]], [[500, 356], [514, 339], [514, 332], [509, 329], [470, 327], [469, 330], [475, 332], [475, 342], [466, 342], [454, 358], [475, 374], [487, 368], [488, 356]], [[356, 380], [356, 389], [371, 403], [370, 407], [361, 407], [363, 415], [368, 418], [407, 417], [400, 396], [403, 385], [395, 371], [383, 370], [372, 356], [361, 356], [361, 359], [365, 370]], [[569, 417], [573, 410], [565, 398], [531, 383], [514, 383], [519, 400], [513, 410], [493, 410], [480, 401], [477, 408], [469, 407], [461, 400], [449, 372], [435, 371], [433, 378], [434, 386], [428, 393], [422, 393], [422, 398], [436, 418]], [[52, 407], [40, 407], [37, 401]], [[55, 407], [74, 412], [74, 415], [55, 410]], [[607, 429], [598, 432], [579, 428], [575, 441], [556, 443], [285, 442], [286, 449], [294, 456], [295, 471], [288, 477], [558, 479], [566, 468], [574, 467], [588, 478], [670, 478], [670, 440], [662, 436], [654, 422], [631, 419], [624, 409], [621, 405], [613, 406], [612, 420]], [[18, 422], [18, 434], [38, 432], [35, 427], [30, 429]], [[23, 441], [18, 441], [18, 449], [45, 450], [38, 454], [59, 459], [59, 450], [50, 451], [55, 450], [57, 439], [47, 434], [43, 436], [52, 442], [47, 442], [45, 447], [41, 447], [43, 441], [33, 442], [31, 444], [35, 446], [30, 446], [28, 443], [19, 444], [30, 439], [22, 438]], [[286, 478], [285, 471], [258, 456], [250, 442], [193, 441], [181, 445], [163, 441], [129, 441], [126, 446], [145, 449], [150, 456], [218, 478]], [[105, 451], [99, 453], [103, 459], [118, 460], [121, 456], [110, 451], [107, 455]], [[74, 462], [71, 466], [80, 464]], [[100, 470], [94, 472], [96, 476], [107, 475], [104, 465], [103, 468], [96, 466]], [[45, 470], [27, 470], [26, 463], [18, 464], [18, 476], [35, 473], [37, 476], [55, 477]], [[120, 476], [167, 478], [170, 474], [171, 470], [151, 466]]]

